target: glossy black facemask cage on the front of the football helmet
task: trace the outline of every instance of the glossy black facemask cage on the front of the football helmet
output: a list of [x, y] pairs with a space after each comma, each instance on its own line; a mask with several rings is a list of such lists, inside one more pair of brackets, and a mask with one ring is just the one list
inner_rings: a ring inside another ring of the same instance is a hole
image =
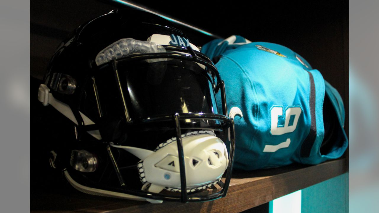
[[[171, 48], [171, 50], [180, 50], [180, 52], [183, 52], [183, 49], [186, 50], [186, 48], [183, 48], [183, 47], [175, 47], [175, 46], [172, 46], [172, 47], [169, 47]], [[107, 63], [107, 64], [104, 64], [102, 66], [99, 67], [99, 69], [97, 70], [97, 72], [106, 72], [106, 70], [103, 70], [102, 68], [103, 67], [108, 67], [106, 69], [113, 69], [113, 78], [115, 79], [115, 82], [116, 84], [118, 84], [116, 87], [118, 88], [117, 90], [119, 90], [119, 96], [122, 97], [122, 100], [124, 102], [124, 112], [125, 112], [125, 118], [126, 118], [126, 121], [128, 123], [144, 123], [144, 122], [156, 122], [156, 121], [163, 121], [163, 120], [168, 120], [170, 119], [174, 125], [174, 129], [175, 129], [175, 132], [176, 132], [176, 141], [177, 141], [177, 147], [178, 147], [178, 152], [179, 152], [179, 168], [180, 168], [180, 187], [181, 187], [181, 194], [180, 194], [180, 197], [169, 197], [169, 196], [164, 196], [162, 194], [157, 194], [157, 193], [143, 193], [142, 191], [141, 192], [137, 192], [137, 191], [129, 191], [129, 190], [122, 190], [124, 192], [127, 192], [128, 194], [133, 194], [133, 195], [136, 195], [136, 196], [141, 196], [141, 197], [146, 197], [146, 198], [149, 198], [149, 199], [157, 199], [157, 200], [180, 200], [181, 202], [196, 202], [196, 201], [207, 201], [207, 200], [214, 200], [214, 199], [217, 199], [219, 197], [224, 197], [226, 195], [226, 192], [227, 192], [227, 188], [229, 186], [229, 182], [230, 182], [230, 176], [231, 176], [231, 170], [232, 170], [232, 163], [233, 163], [233, 155], [234, 155], [234, 125], [233, 125], [233, 121], [232, 119], [230, 119], [229, 117], [226, 117], [226, 116], [221, 116], [221, 115], [217, 115], [217, 114], [208, 114], [208, 113], [195, 113], [195, 114], [184, 114], [184, 113], [170, 113], [170, 114], [166, 114], [164, 116], [152, 116], [152, 117], [149, 117], [149, 121], [147, 120], [144, 120], [144, 119], [132, 119], [132, 116], [130, 115], [130, 112], [128, 110], [128, 104], [125, 102], [125, 99], [127, 99], [127, 97], [125, 97], [126, 94], [123, 93], [122, 91], [122, 82], [120, 81], [120, 76], [119, 76], [119, 70], [118, 70], [118, 64], [119, 63], [125, 63], [126, 61], [138, 61], [138, 60], [146, 60], [146, 59], [152, 59], [152, 58], [169, 58], [169, 59], [180, 59], [180, 60], [187, 60], [187, 61], [193, 61], [193, 62], [196, 62], [196, 63], [199, 63], [199, 64], [202, 64], [202, 65], [205, 65], [206, 67], [210, 67], [211, 69], [211, 75], [208, 75], [207, 71], [204, 69], [204, 76], [207, 77], [207, 79], [210, 81], [210, 82], [217, 82], [217, 83], [212, 83], [212, 90], [215, 89], [216, 91], [218, 91], [218, 89], [221, 87], [221, 97], [225, 97], [225, 91], [224, 91], [224, 86], [223, 86], [223, 82], [221, 81], [221, 78], [219, 77], [219, 74], [217, 72], [217, 70], [215, 69], [215, 67], [213, 66], [213, 64], [209, 63], [208, 61], [206, 61], [206, 56], [202, 56], [203, 58], [200, 58], [198, 55], [201, 55], [200, 53], [198, 53], [197, 55], [194, 55], [196, 53], [194, 53], [194, 51], [192, 50], [192, 54], [191, 55], [183, 55], [183, 54], [178, 54], [178, 53], [174, 53], [174, 52], [166, 52], [166, 53], [154, 53], [154, 54], [141, 54], [141, 55], [132, 55], [132, 56], [129, 56], [127, 58], [122, 58], [122, 59], [119, 59], [119, 60], [113, 60], [111, 61], [110, 63]], [[194, 55], [194, 56], [193, 56]], [[205, 58], [205, 60], [204, 60]], [[100, 79], [97, 77], [97, 75], [95, 74], [94, 75], [96, 79], [96, 81], [100, 81]], [[93, 81], [94, 82], [94, 81]], [[95, 84], [95, 83], [94, 83]], [[215, 86], [213, 86], [215, 85]], [[101, 96], [100, 96], [100, 101], [101, 101]], [[216, 107], [216, 106], [215, 106]], [[226, 110], [226, 102], [222, 102], [222, 111], [224, 114], [226, 114], [227, 110]], [[99, 109], [100, 110], [100, 109]], [[100, 113], [101, 114], [101, 113]], [[219, 122], [227, 122], [230, 125], [230, 151], [229, 151], [229, 163], [227, 165], [227, 174], [226, 174], [226, 181], [225, 181], [225, 184], [222, 184], [219, 183], [219, 186], [221, 187], [221, 191], [218, 191], [216, 193], [213, 193], [209, 196], [205, 196], [205, 197], [197, 197], [197, 196], [189, 196], [188, 193], [187, 193], [187, 189], [186, 189], [186, 174], [185, 174], [185, 165], [184, 165], [184, 154], [183, 154], [183, 144], [182, 144], [182, 127], [180, 125], [180, 119], [199, 119], [199, 118], [202, 118], [202, 119], [208, 119], [208, 120], [215, 120], [215, 121], [219, 121]], [[105, 139], [105, 138], [104, 138]], [[108, 149], [110, 149], [108, 147]], [[113, 159], [114, 160], [114, 159]], [[116, 170], [116, 173], [117, 173], [117, 164], [114, 164], [114, 167], [115, 167], [115, 170]], [[117, 174], [119, 177], [122, 177], [122, 175], [118, 172]], [[121, 183], [122, 185], [122, 183]], [[122, 188], [122, 187], [121, 187]]]

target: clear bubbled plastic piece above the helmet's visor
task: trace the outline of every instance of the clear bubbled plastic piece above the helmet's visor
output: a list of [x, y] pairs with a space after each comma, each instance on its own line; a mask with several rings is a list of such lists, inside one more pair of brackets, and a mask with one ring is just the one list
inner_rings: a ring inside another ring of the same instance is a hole
[[[132, 54], [144, 53], [164, 53], [166, 49], [160, 44], [150, 41], [139, 41], [132, 38], [123, 38], [99, 52], [96, 56], [97, 66], [105, 64], [111, 60], [124, 58]], [[166, 61], [167, 58], [146, 59], [148, 63]]]

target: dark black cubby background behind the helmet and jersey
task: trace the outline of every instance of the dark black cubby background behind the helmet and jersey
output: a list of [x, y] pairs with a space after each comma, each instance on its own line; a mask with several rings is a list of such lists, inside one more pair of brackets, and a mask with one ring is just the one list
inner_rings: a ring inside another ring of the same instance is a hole
[[[241, 35], [250, 41], [284, 45], [303, 56], [341, 94], [348, 133], [348, 2], [347, 1], [148, 1], [131, 2], [215, 37], [178, 25], [195, 45], [214, 38]], [[275, 2], [275, 3], [274, 3]], [[31, 145], [38, 137], [41, 112], [38, 80], [43, 78], [56, 47], [80, 24], [112, 9], [128, 8], [111, 0], [39, 0], [30, 2]], [[36, 106], [38, 105], [38, 107]], [[53, 141], [51, 141], [53, 143]], [[37, 150], [37, 152], [35, 152]], [[31, 146], [31, 165], [48, 163], [39, 146]], [[31, 166], [31, 186], [33, 181]]]

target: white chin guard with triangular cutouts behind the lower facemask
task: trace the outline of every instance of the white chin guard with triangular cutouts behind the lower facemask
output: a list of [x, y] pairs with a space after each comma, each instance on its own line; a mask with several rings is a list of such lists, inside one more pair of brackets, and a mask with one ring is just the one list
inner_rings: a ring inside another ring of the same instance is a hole
[[[182, 135], [187, 192], [202, 190], [221, 180], [228, 165], [224, 142], [212, 131]], [[180, 190], [180, 168], [176, 137], [161, 143], [155, 150], [116, 146], [141, 159], [138, 166], [142, 189], [160, 193], [163, 189]]]

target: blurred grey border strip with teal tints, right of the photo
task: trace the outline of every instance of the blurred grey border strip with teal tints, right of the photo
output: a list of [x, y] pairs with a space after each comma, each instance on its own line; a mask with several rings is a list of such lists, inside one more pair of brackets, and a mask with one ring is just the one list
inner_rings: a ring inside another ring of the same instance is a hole
[[349, 211], [377, 212], [379, 198], [379, 1], [349, 1]]

